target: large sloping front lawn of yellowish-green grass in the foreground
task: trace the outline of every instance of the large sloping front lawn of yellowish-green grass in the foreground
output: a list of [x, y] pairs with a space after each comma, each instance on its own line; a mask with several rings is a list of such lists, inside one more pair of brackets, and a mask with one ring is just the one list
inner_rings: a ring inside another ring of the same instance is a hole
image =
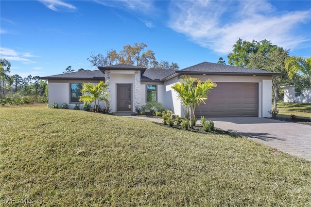
[[86, 111], [0, 107], [5, 199], [32, 199], [32, 206], [311, 206], [311, 163], [246, 138]]

